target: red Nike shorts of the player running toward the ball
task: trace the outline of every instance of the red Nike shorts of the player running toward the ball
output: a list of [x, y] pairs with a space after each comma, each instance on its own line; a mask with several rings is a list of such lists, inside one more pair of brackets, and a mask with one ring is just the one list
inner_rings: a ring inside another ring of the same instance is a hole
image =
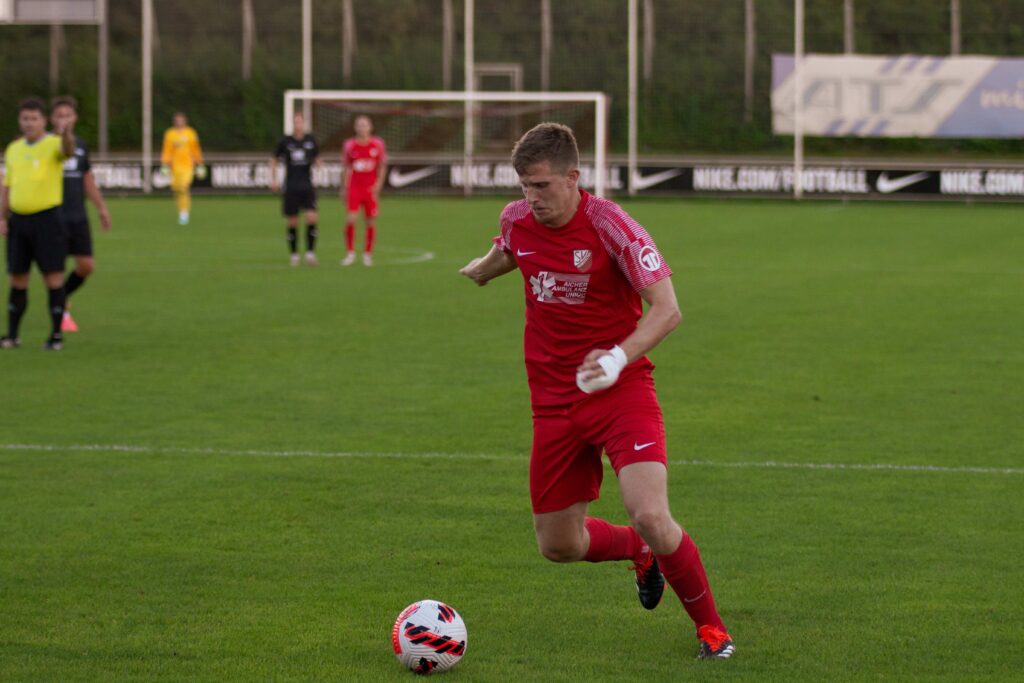
[[615, 474], [632, 463], [667, 464], [665, 419], [648, 374], [568, 405], [534, 407], [529, 496], [535, 513], [596, 501], [608, 454]]

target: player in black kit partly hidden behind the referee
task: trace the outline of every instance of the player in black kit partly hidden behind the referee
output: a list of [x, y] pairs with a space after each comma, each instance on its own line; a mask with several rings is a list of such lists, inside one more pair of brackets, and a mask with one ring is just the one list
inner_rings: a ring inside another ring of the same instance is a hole
[[[54, 130], [63, 130], [78, 122], [78, 102], [74, 97], [57, 97], [50, 104], [50, 122]], [[65, 295], [68, 304], [65, 307], [61, 332], [78, 332], [78, 325], [71, 316], [68, 306], [71, 305], [71, 295], [82, 285], [86, 278], [96, 269], [92, 256], [92, 233], [89, 230], [89, 216], [85, 212], [85, 198], [88, 196], [99, 213], [99, 226], [103, 230], [111, 229], [111, 213], [106, 203], [96, 185], [89, 164], [89, 148], [85, 140], [75, 138], [75, 156], [65, 161], [63, 204], [60, 205], [60, 216], [68, 232], [68, 254], [75, 257], [75, 269], [65, 279]]]

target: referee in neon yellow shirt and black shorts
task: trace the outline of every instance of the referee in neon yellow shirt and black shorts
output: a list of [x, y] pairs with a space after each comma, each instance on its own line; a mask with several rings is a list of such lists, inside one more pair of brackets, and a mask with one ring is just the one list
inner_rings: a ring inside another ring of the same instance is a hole
[[17, 106], [22, 137], [4, 152], [6, 175], [0, 190], [0, 236], [7, 240], [7, 272], [10, 298], [7, 335], [0, 348], [17, 348], [17, 329], [29, 305], [29, 271], [39, 265], [49, 290], [52, 331], [43, 348], [63, 348], [60, 319], [65, 309], [63, 269], [68, 241], [60, 221], [63, 203], [63, 162], [75, 155], [75, 127], [68, 125], [60, 136], [46, 132], [46, 108], [39, 99], [26, 99]]

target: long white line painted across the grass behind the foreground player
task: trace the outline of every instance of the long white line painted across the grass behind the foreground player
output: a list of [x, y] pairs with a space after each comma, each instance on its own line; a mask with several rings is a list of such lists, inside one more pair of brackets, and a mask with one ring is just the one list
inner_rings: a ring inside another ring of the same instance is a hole
[[[528, 460], [526, 454], [520, 456], [489, 453], [371, 453], [359, 451], [260, 451], [253, 449], [189, 449], [182, 446], [126, 445], [117, 443], [76, 443], [57, 445], [53, 443], [0, 443], [0, 451], [74, 451], [83, 453], [140, 453], [170, 454], [188, 456], [247, 456], [256, 458], [392, 458], [397, 460], [494, 460], [522, 462]], [[763, 462], [713, 462], [710, 460], [670, 460], [671, 465], [690, 467], [727, 467], [737, 469], [785, 469], [785, 470], [858, 470], [890, 472], [939, 472], [951, 474], [1024, 474], [1019, 467], [949, 467], [945, 465], [894, 465], [888, 463], [783, 463], [774, 460]]]

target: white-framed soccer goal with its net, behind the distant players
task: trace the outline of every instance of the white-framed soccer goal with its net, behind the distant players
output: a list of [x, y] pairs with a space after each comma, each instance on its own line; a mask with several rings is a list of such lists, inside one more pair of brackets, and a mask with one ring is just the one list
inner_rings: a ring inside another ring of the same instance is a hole
[[407, 191], [517, 190], [512, 145], [538, 123], [572, 128], [581, 184], [598, 196], [608, 185], [607, 96], [600, 92], [453, 92], [288, 90], [285, 130], [305, 112], [325, 159], [340, 153], [366, 115], [388, 150], [388, 184]]

